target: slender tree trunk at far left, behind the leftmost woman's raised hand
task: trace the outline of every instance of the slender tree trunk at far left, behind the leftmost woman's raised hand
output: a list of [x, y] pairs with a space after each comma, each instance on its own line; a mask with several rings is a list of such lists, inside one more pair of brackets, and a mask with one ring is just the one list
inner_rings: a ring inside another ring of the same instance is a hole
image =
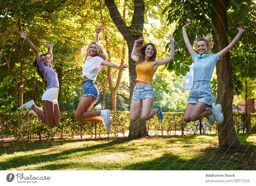
[[[20, 18], [19, 18], [19, 31], [21, 31], [20, 29]], [[24, 22], [23, 22], [23, 27], [24, 27]], [[21, 43], [21, 47], [20, 47], [20, 86], [19, 86], [19, 107], [21, 105], [23, 105], [23, 89], [24, 89], [24, 75], [23, 75], [23, 64], [24, 64], [24, 58], [23, 58], [23, 42], [24, 42], [24, 38], [20, 38], [20, 43]]]

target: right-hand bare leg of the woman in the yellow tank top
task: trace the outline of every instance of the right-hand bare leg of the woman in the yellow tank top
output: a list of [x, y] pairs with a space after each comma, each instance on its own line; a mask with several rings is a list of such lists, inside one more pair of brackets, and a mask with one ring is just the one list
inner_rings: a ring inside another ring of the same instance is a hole
[[154, 115], [156, 115], [157, 112], [159, 112], [158, 108], [151, 109], [153, 105], [154, 100], [147, 97], [142, 100], [142, 119], [143, 120], [150, 120], [153, 118]]

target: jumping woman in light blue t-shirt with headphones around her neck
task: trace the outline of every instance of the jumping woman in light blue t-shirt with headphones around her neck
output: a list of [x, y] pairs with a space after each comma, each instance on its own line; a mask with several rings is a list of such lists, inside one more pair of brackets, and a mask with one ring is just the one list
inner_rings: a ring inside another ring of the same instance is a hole
[[204, 38], [199, 37], [194, 44], [194, 48], [198, 52], [197, 54], [188, 39], [186, 32], [188, 25], [190, 25], [190, 21], [182, 27], [182, 33], [188, 51], [194, 60], [194, 79], [193, 86], [188, 96], [188, 105], [185, 109], [183, 120], [190, 122], [206, 117], [211, 125], [214, 124], [215, 120], [217, 124], [220, 125], [224, 119], [221, 112], [222, 108], [220, 104], [212, 107], [212, 86], [210, 80], [216, 62], [234, 47], [245, 28], [242, 25], [237, 27], [238, 34], [235, 39], [226, 48], [216, 54], [207, 53], [211, 52], [213, 46], [212, 35], [206, 35]]

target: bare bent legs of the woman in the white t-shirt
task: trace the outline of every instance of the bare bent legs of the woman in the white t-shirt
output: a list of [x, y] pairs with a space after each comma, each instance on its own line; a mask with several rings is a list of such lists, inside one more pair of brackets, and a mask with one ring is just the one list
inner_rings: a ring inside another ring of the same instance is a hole
[[[93, 96], [84, 96], [76, 108], [76, 119], [81, 121], [102, 121], [100, 111], [91, 111], [96, 99]], [[93, 118], [93, 120], [92, 120]]]

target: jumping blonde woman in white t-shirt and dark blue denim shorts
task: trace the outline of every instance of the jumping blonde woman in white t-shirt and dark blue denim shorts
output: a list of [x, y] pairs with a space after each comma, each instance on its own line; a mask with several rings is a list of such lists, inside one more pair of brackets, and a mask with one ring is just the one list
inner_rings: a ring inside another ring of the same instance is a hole
[[82, 77], [84, 79], [83, 89], [84, 94], [76, 108], [76, 119], [81, 121], [102, 121], [106, 127], [107, 133], [110, 131], [112, 116], [109, 110], [91, 111], [92, 106], [99, 99], [99, 91], [95, 84], [95, 80], [101, 70], [106, 65], [113, 68], [124, 69], [128, 66], [118, 66], [108, 60], [108, 53], [98, 43], [98, 35], [104, 30], [104, 26], [96, 26], [96, 36], [94, 42], [82, 48], [82, 55], [84, 56], [84, 67]]

